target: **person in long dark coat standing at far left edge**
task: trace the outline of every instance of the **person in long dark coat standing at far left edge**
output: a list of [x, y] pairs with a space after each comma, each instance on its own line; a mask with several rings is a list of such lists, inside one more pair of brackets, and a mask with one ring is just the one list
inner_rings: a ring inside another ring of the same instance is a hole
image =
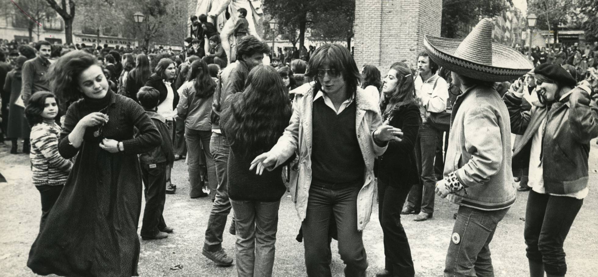
[[16, 67], [8, 72], [6, 75], [6, 81], [4, 82], [4, 91], [10, 91], [10, 106], [8, 106], [8, 127], [6, 137], [13, 142], [13, 146], [10, 149], [11, 154], [17, 153], [17, 141], [20, 137], [25, 139], [23, 148], [29, 145], [29, 124], [25, 119], [23, 107], [14, 104], [19, 97], [21, 97], [21, 69], [23, 63], [27, 60], [26, 57], [19, 56], [16, 59]]

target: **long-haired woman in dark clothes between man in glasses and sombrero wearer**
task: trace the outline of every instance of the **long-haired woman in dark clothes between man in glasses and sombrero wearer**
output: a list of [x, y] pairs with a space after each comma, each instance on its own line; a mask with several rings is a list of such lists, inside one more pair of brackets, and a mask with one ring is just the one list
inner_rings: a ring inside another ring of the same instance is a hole
[[380, 110], [384, 124], [400, 128], [400, 141], [391, 140], [384, 155], [377, 158], [379, 220], [384, 233], [385, 269], [377, 276], [413, 277], [411, 248], [401, 224], [401, 208], [413, 184], [419, 182], [415, 141], [421, 118], [411, 71], [390, 67], [382, 85]]

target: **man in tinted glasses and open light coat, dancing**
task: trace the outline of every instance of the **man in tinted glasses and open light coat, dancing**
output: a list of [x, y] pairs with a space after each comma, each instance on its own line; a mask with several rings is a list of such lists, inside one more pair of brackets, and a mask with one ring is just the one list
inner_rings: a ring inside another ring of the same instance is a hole
[[324, 45], [309, 60], [307, 77], [295, 94], [293, 115], [276, 145], [252, 162], [261, 174], [298, 153], [290, 191], [302, 221], [307, 276], [331, 276], [328, 228], [338, 230], [345, 276], [365, 276], [368, 267], [362, 230], [370, 220], [376, 181], [374, 158], [401, 130], [383, 124], [378, 103], [359, 87], [349, 50]]

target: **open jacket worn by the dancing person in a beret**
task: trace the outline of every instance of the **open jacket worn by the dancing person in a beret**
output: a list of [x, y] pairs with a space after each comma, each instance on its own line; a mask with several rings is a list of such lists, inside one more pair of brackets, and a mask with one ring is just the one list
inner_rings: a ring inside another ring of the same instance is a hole
[[546, 119], [542, 139], [542, 178], [546, 193], [568, 194], [588, 185], [590, 140], [598, 137], [598, 106], [582, 88], [573, 88], [564, 99], [525, 110], [521, 98], [505, 94], [511, 116], [511, 130], [523, 135], [515, 141], [514, 170], [529, 166], [532, 138]]

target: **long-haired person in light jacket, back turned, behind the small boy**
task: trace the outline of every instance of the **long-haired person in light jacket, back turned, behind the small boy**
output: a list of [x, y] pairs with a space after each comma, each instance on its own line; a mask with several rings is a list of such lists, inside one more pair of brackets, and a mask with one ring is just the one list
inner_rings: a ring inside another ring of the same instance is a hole
[[210, 77], [208, 64], [203, 60], [193, 61], [187, 82], [178, 90], [181, 98], [176, 106], [178, 118], [185, 121], [189, 196], [191, 198], [208, 196], [202, 191], [204, 181], [200, 176], [201, 155], [205, 156], [208, 170], [208, 188], [210, 192], [216, 192], [218, 183], [216, 181], [216, 167], [210, 152], [210, 137], [212, 137], [210, 113], [212, 112], [212, 97], [215, 90], [216, 82]]

